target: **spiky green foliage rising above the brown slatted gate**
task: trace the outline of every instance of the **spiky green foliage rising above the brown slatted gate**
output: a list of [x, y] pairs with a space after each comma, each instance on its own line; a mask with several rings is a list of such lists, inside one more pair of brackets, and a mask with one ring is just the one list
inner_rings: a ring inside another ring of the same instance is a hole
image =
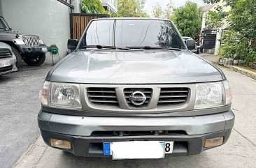
[[83, 13], [109, 14], [103, 8], [100, 0], [83, 0], [80, 7]]

